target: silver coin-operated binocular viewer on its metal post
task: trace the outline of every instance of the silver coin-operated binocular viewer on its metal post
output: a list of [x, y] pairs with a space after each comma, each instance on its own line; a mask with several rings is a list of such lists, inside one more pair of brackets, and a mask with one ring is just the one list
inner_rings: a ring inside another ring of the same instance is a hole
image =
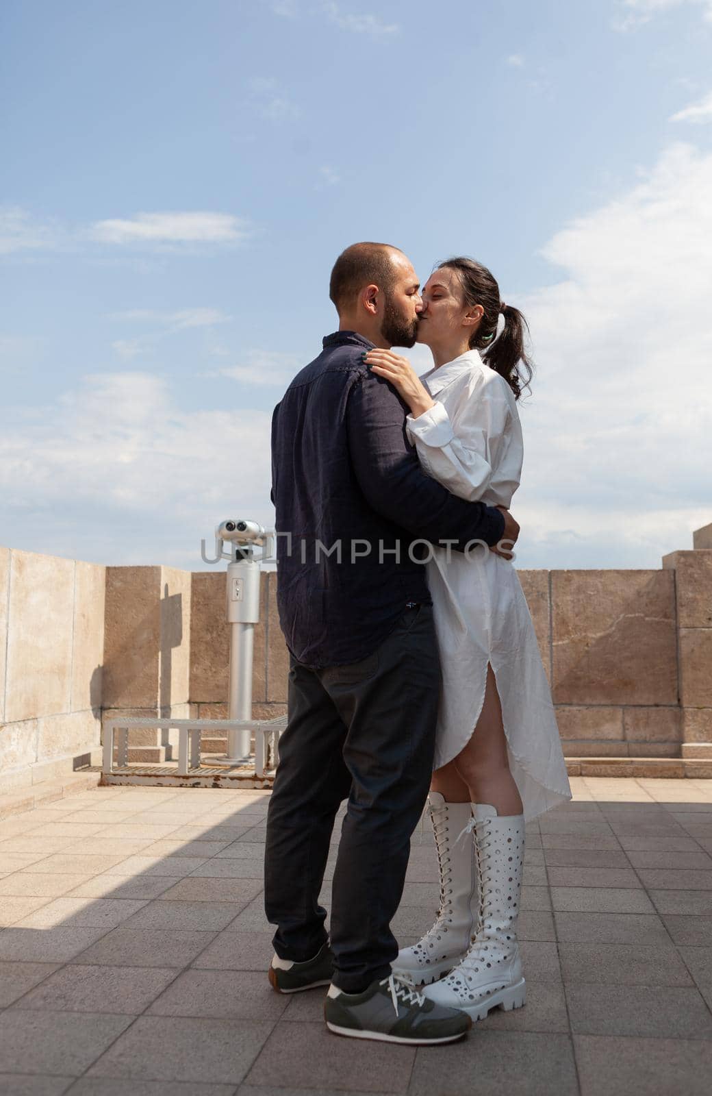
[[[275, 533], [257, 522], [228, 518], [215, 530], [215, 559], [200, 556], [206, 563], [228, 559], [227, 619], [230, 625], [230, 677], [228, 719], [252, 721], [252, 659], [254, 626], [260, 621], [260, 562], [274, 555]], [[228, 550], [226, 551], [226, 545]], [[250, 758], [250, 728], [228, 730], [228, 753], [223, 758], [233, 765]]]

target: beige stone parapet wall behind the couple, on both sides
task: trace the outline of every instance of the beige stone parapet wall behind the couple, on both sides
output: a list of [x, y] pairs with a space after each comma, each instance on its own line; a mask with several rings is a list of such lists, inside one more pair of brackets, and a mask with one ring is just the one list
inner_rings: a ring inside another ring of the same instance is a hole
[[[712, 525], [693, 544], [658, 571], [519, 571], [572, 772], [576, 758], [645, 757], [708, 761], [696, 772], [712, 775]], [[226, 717], [225, 587], [225, 570], [0, 548], [0, 789], [97, 762], [102, 719]], [[259, 718], [286, 710], [275, 594], [263, 573]], [[130, 760], [171, 757], [174, 732], [131, 735]]]

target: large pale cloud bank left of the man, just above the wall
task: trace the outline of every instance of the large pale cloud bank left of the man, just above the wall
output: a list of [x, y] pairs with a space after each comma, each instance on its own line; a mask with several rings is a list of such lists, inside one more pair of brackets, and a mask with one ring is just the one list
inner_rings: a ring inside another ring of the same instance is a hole
[[0, 520], [22, 526], [13, 547], [199, 569], [200, 538], [209, 548], [223, 517], [273, 520], [267, 411], [185, 411], [163, 378], [138, 372], [89, 375], [47, 407], [11, 411]]

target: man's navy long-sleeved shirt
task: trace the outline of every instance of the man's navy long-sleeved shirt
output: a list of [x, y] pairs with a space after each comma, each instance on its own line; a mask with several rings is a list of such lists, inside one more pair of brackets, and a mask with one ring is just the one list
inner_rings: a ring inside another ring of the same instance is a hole
[[504, 533], [498, 510], [456, 498], [422, 470], [406, 404], [361, 361], [374, 344], [337, 331], [323, 346], [272, 418], [279, 621], [311, 669], [365, 659], [407, 602], [432, 603], [427, 545], [414, 541], [462, 551]]

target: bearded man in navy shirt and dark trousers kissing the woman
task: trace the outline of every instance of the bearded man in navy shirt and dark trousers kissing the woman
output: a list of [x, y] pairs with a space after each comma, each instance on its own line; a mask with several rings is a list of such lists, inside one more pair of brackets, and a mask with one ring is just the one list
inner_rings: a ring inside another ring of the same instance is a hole
[[[506, 511], [457, 499], [422, 471], [405, 404], [363, 363], [374, 346], [413, 345], [418, 289], [397, 248], [347, 248], [331, 275], [338, 331], [295, 377], [272, 423], [290, 670], [267, 815], [265, 909], [277, 925], [269, 981], [283, 993], [331, 982], [331, 1030], [406, 1043], [448, 1042], [470, 1027], [464, 1013], [391, 974], [389, 926], [430, 783], [440, 685], [424, 543], [462, 551], [518, 534]], [[330, 947], [319, 892], [346, 798]]]

